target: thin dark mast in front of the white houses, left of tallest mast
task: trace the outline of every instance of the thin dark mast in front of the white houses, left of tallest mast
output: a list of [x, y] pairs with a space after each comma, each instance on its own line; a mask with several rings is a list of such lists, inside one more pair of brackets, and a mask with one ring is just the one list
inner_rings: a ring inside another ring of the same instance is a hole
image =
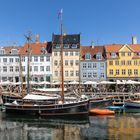
[[27, 93], [30, 92], [30, 42], [31, 42], [31, 33], [29, 32], [29, 34], [27, 36], [25, 36], [27, 39]]

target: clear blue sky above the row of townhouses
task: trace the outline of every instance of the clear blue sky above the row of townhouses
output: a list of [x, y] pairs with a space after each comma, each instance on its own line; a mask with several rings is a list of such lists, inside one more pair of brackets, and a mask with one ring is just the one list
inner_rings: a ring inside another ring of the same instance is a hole
[[0, 46], [23, 45], [29, 31], [34, 41], [51, 41], [63, 32], [81, 34], [81, 45], [140, 43], [140, 0], [0, 0]]

